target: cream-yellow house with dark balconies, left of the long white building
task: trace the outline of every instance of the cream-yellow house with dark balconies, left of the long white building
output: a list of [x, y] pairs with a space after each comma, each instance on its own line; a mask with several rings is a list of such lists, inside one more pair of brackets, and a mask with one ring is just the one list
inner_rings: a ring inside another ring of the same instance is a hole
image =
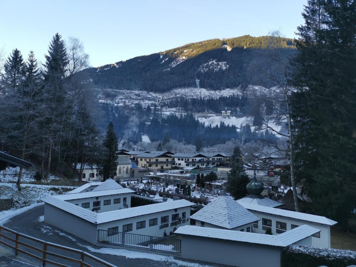
[[[137, 163], [138, 162], [138, 163]], [[136, 155], [137, 167], [153, 168], [161, 171], [172, 169], [172, 157], [162, 152]]]

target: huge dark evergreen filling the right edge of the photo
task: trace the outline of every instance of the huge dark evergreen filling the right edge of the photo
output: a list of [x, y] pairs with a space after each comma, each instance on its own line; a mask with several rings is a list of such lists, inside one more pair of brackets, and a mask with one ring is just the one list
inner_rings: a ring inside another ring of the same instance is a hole
[[309, 0], [298, 27], [295, 162], [316, 213], [347, 230], [356, 203], [355, 1]]

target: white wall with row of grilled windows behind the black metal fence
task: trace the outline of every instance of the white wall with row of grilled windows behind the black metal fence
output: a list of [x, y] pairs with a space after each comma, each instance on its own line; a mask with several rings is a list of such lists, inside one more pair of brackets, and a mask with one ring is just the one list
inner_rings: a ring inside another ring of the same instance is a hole
[[[119, 227], [119, 232], [122, 232], [122, 226], [125, 224], [131, 224], [132, 223], [132, 231], [128, 232], [130, 234], [139, 234], [139, 235], [149, 235], [149, 236], [157, 236], [157, 237], [163, 237], [163, 232], [166, 230], [167, 235], [169, 235], [170, 231], [173, 231], [174, 227], [178, 228], [179, 226], [183, 225], [189, 225], [190, 224], [190, 219], [186, 221], [186, 223], [181, 223], [178, 224], [177, 226], [173, 225], [171, 226], [172, 223], [172, 214], [177, 214], [179, 213], [179, 217], [182, 218], [182, 213], [185, 212], [185, 219], [188, 219], [190, 216], [190, 207], [185, 207], [185, 208], [178, 208], [177, 212], [174, 210], [167, 210], [167, 211], [162, 211], [159, 213], [153, 213], [153, 214], [147, 214], [147, 215], [142, 215], [142, 216], [137, 216], [133, 218], [128, 218], [128, 219], [123, 219], [123, 220], [118, 220], [118, 221], [111, 221], [108, 223], [103, 223], [103, 224], [98, 224], [98, 229], [100, 230], [108, 230], [108, 228], [111, 227]], [[161, 217], [168, 215], [169, 220], [168, 220], [168, 227], [159, 229], [159, 226], [161, 225]], [[157, 218], [157, 225], [154, 226], [149, 226], [149, 221], [150, 219]], [[146, 227], [142, 229], [136, 229], [136, 223], [139, 221], [146, 221]]]

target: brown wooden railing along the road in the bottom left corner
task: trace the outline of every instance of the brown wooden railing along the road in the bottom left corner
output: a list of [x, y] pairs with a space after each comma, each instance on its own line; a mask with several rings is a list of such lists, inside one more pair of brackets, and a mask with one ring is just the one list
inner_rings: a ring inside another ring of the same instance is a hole
[[[9, 232], [11, 234], [14, 234], [15, 235], [15, 239], [14, 238], [11, 238], [10, 236], [7, 236], [5, 235], [4, 233], [5, 232]], [[1, 237], [2, 237], [2, 240], [1, 240]], [[21, 240], [20, 241], [20, 237], [21, 237]], [[4, 241], [4, 238], [7, 239], [7, 240], [10, 240], [11, 242], [14, 242], [15, 243], [15, 246], [13, 245], [10, 245], [9, 243], [5, 242]], [[31, 241], [34, 241], [36, 242], [36, 244], [40, 245], [40, 246], [43, 246], [43, 249], [42, 248], [39, 248], [39, 247], [36, 247], [36, 246], [32, 246], [30, 244], [27, 244], [25, 242], [25, 240], [23, 239], [27, 239], [27, 240], [31, 240]], [[43, 241], [41, 239], [37, 239], [35, 237], [32, 237], [32, 236], [28, 236], [28, 235], [25, 235], [25, 234], [22, 234], [22, 233], [19, 233], [19, 232], [16, 232], [14, 230], [11, 230], [7, 227], [4, 227], [4, 226], [1, 226], [0, 225], [0, 244], [3, 244], [5, 246], [8, 246], [12, 249], [15, 250], [15, 255], [18, 255], [19, 252], [23, 253], [23, 254], [26, 254], [28, 256], [31, 256], [33, 258], [36, 258], [37, 260], [40, 260], [42, 261], [42, 266], [46, 266], [46, 263], [51, 263], [53, 265], [56, 265], [56, 266], [62, 266], [62, 267], [69, 267], [69, 266], [74, 266], [73, 264], [70, 264], [70, 265], [64, 265], [62, 263], [59, 263], [59, 262], [56, 262], [56, 261], [52, 261], [52, 260], [48, 260], [47, 259], [47, 256], [54, 256], [54, 257], [57, 257], [57, 258], [61, 258], [61, 259], [64, 259], [64, 260], [67, 260], [67, 261], [70, 261], [70, 262], [75, 262], [75, 263], [78, 263], [78, 266], [80, 267], [94, 267], [92, 265], [90, 265], [88, 262], [85, 262], [85, 259], [91, 259], [93, 261], [95, 261], [95, 267], [96, 266], [108, 266], [108, 267], [116, 267], [115, 265], [112, 265], [111, 263], [109, 262], [106, 262], [104, 260], [101, 260], [100, 258], [98, 257], [95, 257], [85, 251], [82, 251], [82, 250], [77, 250], [75, 248], [70, 248], [70, 247], [66, 247], [66, 246], [61, 246], [61, 245], [58, 245], [58, 244], [54, 244], [54, 243], [51, 243], [51, 242], [46, 242], [46, 241]], [[39, 251], [41, 253], [42, 256], [38, 256], [38, 255], [35, 255], [31, 252], [28, 252], [24, 249], [21, 249], [19, 248], [19, 245], [22, 245], [22, 246], [25, 246], [25, 247], [28, 247], [32, 250], [36, 250], [36, 251]], [[58, 248], [60, 250], [64, 250], [64, 251], [69, 251], [69, 252], [73, 252], [73, 253], [77, 253], [78, 256], [80, 255], [80, 260], [79, 259], [76, 259], [76, 258], [72, 258], [72, 257], [68, 257], [68, 256], [64, 256], [62, 254], [58, 254], [58, 253], [54, 253], [54, 252], [51, 252], [51, 251], [48, 251], [48, 248], [49, 247], [53, 247], [53, 248]]]

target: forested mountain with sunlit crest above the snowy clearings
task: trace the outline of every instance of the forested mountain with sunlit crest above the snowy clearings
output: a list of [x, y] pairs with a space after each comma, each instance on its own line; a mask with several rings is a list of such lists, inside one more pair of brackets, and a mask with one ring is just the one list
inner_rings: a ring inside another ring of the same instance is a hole
[[[85, 70], [96, 88], [163, 93], [176, 88], [247, 88], [268, 83], [260, 68], [274, 48], [275, 37], [245, 35], [212, 39]], [[282, 38], [282, 56], [295, 52]]]

